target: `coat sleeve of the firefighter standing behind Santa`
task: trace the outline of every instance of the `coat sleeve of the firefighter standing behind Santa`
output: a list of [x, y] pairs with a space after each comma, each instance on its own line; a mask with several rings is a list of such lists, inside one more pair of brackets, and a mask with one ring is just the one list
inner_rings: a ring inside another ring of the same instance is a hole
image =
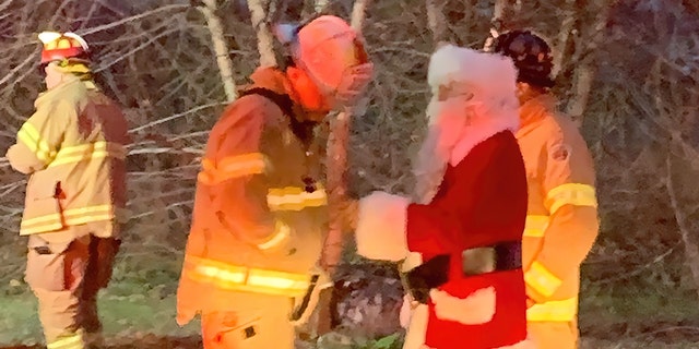
[[579, 277], [599, 233], [594, 167], [582, 142], [554, 140], [547, 145], [543, 190], [549, 220], [543, 246], [524, 266], [526, 294], [534, 302], [545, 302], [564, 279]]

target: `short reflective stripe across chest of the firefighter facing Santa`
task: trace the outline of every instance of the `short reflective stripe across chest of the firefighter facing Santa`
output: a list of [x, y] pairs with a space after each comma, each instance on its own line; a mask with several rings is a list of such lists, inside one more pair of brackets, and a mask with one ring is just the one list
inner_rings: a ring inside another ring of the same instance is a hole
[[268, 191], [266, 205], [270, 210], [301, 210], [328, 205], [328, 195], [322, 188], [310, 193], [298, 186], [272, 188]]

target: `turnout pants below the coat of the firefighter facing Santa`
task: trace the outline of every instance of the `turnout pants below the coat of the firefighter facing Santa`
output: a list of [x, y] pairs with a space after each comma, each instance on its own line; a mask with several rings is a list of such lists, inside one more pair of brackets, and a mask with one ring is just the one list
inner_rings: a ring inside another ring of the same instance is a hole
[[293, 299], [240, 292], [235, 309], [201, 316], [204, 349], [294, 349]]

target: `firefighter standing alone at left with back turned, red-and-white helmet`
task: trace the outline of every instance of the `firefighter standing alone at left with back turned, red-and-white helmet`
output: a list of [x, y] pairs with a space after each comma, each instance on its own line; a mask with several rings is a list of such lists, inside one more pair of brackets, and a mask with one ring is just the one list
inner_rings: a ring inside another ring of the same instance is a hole
[[127, 123], [93, 82], [83, 38], [45, 32], [39, 39], [47, 92], [7, 158], [29, 176], [20, 234], [28, 236], [25, 279], [47, 347], [80, 349], [99, 339], [97, 292], [118, 251]]

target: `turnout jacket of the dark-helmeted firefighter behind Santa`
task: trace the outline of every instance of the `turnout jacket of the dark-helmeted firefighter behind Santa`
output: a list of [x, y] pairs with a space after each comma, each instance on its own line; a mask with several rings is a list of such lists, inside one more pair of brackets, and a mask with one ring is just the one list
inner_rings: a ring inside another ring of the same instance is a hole
[[520, 109], [517, 133], [529, 184], [522, 240], [530, 322], [571, 322], [578, 314], [580, 264], [597, 237], [592, 156], [572, 121], [547, 95]]

